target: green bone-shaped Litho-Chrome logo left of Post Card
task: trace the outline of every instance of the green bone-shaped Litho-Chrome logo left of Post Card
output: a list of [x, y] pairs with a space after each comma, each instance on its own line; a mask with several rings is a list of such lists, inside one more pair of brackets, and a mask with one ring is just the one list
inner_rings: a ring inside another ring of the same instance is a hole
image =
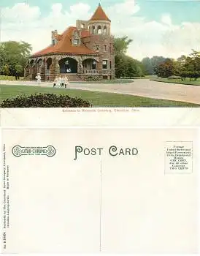
[[46, 147], [22, 147], [22, 146], [14, 146], [12, 148], [12, 154], [15, 157], [21, 156], [47, 156], [53, 157], [55, 155], [54, 146], [46, 146]]

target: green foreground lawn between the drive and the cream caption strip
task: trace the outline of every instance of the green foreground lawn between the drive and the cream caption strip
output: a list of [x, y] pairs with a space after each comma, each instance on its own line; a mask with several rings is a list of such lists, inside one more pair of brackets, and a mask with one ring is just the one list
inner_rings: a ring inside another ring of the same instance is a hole
[[69, 97], [81, 97], [91, 102], [94, 107], [200, 107], [200, 105], [187, 102], [175, 102], [172, 100], [151, 99], [99, 91], [0, 85], [1, 102], [4, 99], [17, 97], [18, 95], [31, 95], [36, 93], [68, 94]]

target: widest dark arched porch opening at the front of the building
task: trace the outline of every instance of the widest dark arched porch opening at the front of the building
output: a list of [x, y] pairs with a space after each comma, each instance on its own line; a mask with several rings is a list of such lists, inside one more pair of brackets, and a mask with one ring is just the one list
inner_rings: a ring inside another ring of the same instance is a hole
[[77, 61], [73, 58], [64, 58], [58, 61], [60, 66], [60, 73], [76, 74]]

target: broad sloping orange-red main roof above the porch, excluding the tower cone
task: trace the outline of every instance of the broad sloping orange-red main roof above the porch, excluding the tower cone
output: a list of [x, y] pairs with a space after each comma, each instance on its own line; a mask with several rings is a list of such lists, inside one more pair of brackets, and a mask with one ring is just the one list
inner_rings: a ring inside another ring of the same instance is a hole
[[[63, 34], [58, 35], [58, 42], [47, 48], [34, 53], [33, 56], [42, 56], [50, 53], [75, 53], [75, 54], [98, 54], [96, 51], [87, 48], [85, 45], [72, 45], [72, 33], [77, 28], [69, 26]], [[81, 37], [89, 37], [89, 31], [82, 31]]]

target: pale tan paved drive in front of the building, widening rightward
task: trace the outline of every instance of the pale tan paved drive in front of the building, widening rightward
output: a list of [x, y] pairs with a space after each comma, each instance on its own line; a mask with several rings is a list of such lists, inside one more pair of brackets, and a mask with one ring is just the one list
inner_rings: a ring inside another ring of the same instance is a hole
[[[0, 81], [0, 84], [36, 86], [36, 82]], [[42, 87], [52, 87], [53, 83], [41, 83]], [[155, 99], [171, 99], [200, 104], [200, 86], [178, 83], [162, 83], [148, 79], [136, 79], [133, 83], [71, 83], [69, 89], [104, 91], [118, 94], [130, 94]]]

